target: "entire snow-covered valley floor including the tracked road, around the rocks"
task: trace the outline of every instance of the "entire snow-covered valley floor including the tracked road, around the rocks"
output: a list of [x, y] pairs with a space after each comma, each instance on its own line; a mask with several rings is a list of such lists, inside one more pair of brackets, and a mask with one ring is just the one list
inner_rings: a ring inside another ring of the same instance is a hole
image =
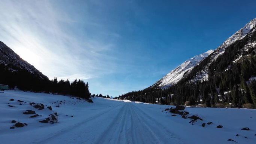
[[[10, 98], [14, 101], [9, 101]], [[24, 102], [17, 102], [18, 99]], [[189, 116], [196, 114], [204, 119], [191, 125], [191, 119], [183, 119], [179, 115], [173, 117], [170, 112], [163, 111], [172, 106], [98, 97], [92, 100], [94, 103], [61, 95], [19, 90], [3, 91], [0, 93], [1, 143], [230, 144], [234, 142], [227, 140], [232, 139], [238, 143], [254, 144], [256, 140], [254, 109], [186, 107]], [[54, 101], [65, 101], [65, 105], [63, 102], [59, 104], [60, 107], [55, 107], [57, 104]], [[29, 102], [52, 106], [53, 110], [37, 110], [29, 105]], [[25, 110], [34, 110], [42, 117], [29, 118], [29, 115], [22, 114]], [[38, 122], [53, 112], [58, 113], [58, 123]], [[11, 120], [28, 125], [10, 129], [10, 126], [13, 126]], [[207, 122], [213, 124], [201, 126]], [[223, 128], [216, 128], [219, 124]], [[244, 127], [249, 127], [250, 131], [241, 130]], [[239, 136], [236, 136], [237, 134]]]

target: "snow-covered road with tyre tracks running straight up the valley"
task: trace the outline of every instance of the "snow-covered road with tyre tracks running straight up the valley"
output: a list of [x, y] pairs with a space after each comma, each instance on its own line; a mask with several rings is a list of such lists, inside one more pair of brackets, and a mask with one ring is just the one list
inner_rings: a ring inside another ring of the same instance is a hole
[[121, 102], [116, 108], [84, 119], [35, 144], [180, 144], [182, 141], [164, 125], [144, 113], [134, 102]]

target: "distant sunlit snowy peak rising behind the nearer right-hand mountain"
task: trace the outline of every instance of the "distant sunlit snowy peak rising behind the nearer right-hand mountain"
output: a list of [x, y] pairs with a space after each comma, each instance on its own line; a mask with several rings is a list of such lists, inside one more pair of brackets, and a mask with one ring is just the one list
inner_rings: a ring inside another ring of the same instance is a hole
[[210, 55], [214, 50], [208, 50], [205, 53], [202, 53], [200, 55], [196, 55], [191, 59], [186, 60], [181, 65], [179, 65], [177, 68], [172, 70], [170, 73], [168, 73], [166, 76], [164, 76], [162, 79], [160, 79], [158, 82], [156, 82], [153, 86], [159, 86], [161, 88], [168, 88], [171, 85], [174, 85], [175, 83], [179, 82], [180, 79], [184, 76], [185, 73], [188, 73], [193, 69], [195, 65], [197, 65], [199, 62], [201, 62], [204, 58], [206, 58], [208, 55]]

